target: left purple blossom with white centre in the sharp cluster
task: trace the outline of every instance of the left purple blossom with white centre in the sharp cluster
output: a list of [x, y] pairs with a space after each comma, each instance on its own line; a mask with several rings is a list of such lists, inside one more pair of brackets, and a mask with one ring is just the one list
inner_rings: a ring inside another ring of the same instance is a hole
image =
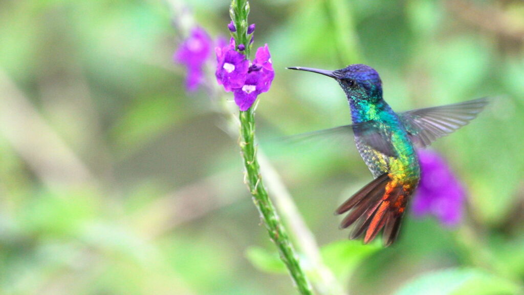
[[242, 88], [246, 80], [249, 60], [235, 50], [235, 40], [231, 38], [230, 44], [222, 48], [216, 47], [216, 81], [223, 85], [226, 91]]

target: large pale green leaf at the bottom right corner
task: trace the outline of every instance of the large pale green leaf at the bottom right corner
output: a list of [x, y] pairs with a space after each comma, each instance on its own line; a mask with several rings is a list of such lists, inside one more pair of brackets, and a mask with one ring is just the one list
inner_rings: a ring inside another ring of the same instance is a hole
[[484, 270], [445, 269], [425, 273], [402, 287], [396, 295], [517, 294], [520, 287]]

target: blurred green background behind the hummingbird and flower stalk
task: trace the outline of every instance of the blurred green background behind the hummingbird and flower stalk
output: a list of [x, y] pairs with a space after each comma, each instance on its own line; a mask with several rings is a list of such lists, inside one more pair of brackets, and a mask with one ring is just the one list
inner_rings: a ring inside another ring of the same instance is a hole
[[[226, 35], [228, 1], [0, 2], [0, 293], [293, 294], [243, 184], [236, 141], [172, 54], [186, 7]], [[276, 78], [261, 137], [348, 124], [334, 81], [377, 69], [395, 110], [500, 99], [434, 144], [464, 222], [408, 216], [396, 245], [347, 243], [332, 215], [371, 177], [351, 146], [271, 151], [352, 294], [515, 294], [524, 286], [524, 2], [250, 3]], [[233, 106], [228, 97], [228, 106]], [[246, 255], [249, 253], [249, 255]]]

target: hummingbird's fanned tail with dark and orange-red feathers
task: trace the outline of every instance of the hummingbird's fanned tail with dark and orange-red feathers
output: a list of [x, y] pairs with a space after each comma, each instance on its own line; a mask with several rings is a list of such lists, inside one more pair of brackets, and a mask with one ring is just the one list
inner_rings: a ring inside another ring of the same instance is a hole
[[365, 244], [372, 241], [384, 228], [383, 242], [387, 247], [397, 238], [409, 195], [411, 192], [407, 192], [402, 184], [391, 180], [384, 173], [347, 199], [336, 209], [335, 214], [351, 210], [340, 227], [355, 224], [350, 238], [356, 239], [365, 232]]

